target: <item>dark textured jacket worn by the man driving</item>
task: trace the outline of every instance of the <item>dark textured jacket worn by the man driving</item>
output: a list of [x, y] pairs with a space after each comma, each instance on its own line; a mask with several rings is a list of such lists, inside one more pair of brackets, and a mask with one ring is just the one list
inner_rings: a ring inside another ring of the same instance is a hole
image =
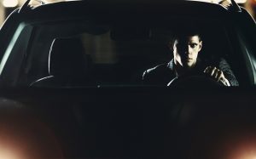
[[[198, 60], [195, 68], [189, 74], [198, 75], [201, 74], [207, 67], [206, 62]], [[215, 66], [215, 65], [213, 65]], [[226, 77], [231, 86], [238, 86], [239, 83], [236, 80], [233, 72], [230, 69], [230, 65], [224, 59], [218, 61], [216, 66], [218, 69], [224, 72], [224, 77]], [[154, 68], [148, 69], [143, 73], [143, 84], [148, 85], [158, 85], [167, 86], [173, 78], [177, 77], [176, 71], [174, 70], [174, 60], [172, 59], [169, 63], [156, 65]]]

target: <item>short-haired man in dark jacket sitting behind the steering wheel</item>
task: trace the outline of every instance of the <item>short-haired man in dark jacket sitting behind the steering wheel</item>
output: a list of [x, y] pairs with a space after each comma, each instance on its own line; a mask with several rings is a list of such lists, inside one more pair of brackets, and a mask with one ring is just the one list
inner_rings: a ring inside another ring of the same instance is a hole
[[144, 71], [143, 83], [167, 86], [174, 78], [203, 74], [224, 86], [238, 86], [230, 65], [224, 59], [219, 60], [217, 66], [212, 66], [198, 58], [202, 45], [198, 31], [179, 33], [169, 46], [173, 52], [173, 59], [167, 64], [157, 65]]

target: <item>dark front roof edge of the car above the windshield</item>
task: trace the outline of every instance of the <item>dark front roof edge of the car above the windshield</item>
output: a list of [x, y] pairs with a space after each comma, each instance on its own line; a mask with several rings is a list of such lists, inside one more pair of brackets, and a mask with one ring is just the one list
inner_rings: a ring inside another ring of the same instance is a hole
[[[102, 19], [128, 17], [159, 19], [168, 16], [198, 17], [203, 19], [223, 19], [229, 16], [229, 10], [216, 3], [196, 1], [117, 1], [89, 0], [49, 3], [35, 8], [26, 8], [20, 14], [26, 20], [53, 20], [97, 16]], [[122, 17], [123, 16], [123, 17]]]

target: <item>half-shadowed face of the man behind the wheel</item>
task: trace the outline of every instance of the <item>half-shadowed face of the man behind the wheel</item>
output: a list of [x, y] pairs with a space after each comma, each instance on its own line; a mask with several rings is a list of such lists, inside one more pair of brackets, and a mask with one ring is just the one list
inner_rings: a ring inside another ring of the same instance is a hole
[[174, 63], [185, 68], [192, 68], [196, 64], [201, 46], [200, 37], [196, 35], [177, 39], [173, 45]]

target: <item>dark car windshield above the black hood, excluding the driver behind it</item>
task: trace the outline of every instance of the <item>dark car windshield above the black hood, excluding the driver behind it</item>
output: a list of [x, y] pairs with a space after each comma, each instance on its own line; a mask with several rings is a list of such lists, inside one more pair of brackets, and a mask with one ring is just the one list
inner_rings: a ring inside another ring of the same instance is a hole
[[[191, 24], [197, 24], [201, 31], [203, 44], [198, 59], [212, 63], [224, 58], [239, 77], [233, 68], [228, 26], [218, 20], [65, 20], [25, 25], [20, 37], [27, 37], [27, 47], [19, 49], [23, 54], [9, 57], [20, 64], [15, 84], [53, 88], [142, 86], [143, 72], [169, 63], [173, 58], [170, 45], [174, 35], [186, 31]], [[25, 38], [20, 39], [24, 44]], [[60, 39], [65, 42], [58, 44]], [[19, 43], [18, 39], [15, 45]], [[49, 80], [52, 77], [55, 79]], [[49, 81], [42, 82], [45, 79]]]

